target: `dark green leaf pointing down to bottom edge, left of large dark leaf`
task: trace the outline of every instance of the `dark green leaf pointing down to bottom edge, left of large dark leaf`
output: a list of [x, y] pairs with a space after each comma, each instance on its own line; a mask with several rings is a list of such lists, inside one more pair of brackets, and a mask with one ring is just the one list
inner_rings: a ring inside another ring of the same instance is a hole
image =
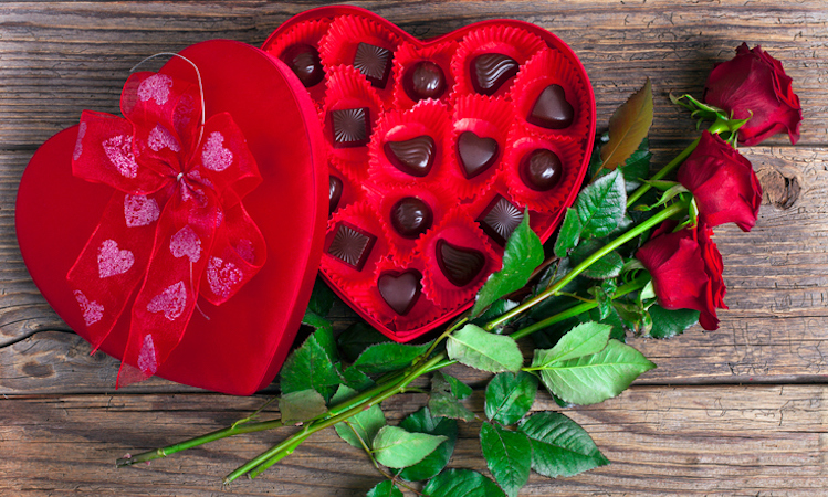
[[521, 432], [483, 423], [480, 446], [495, 482], [509, 497], [517, 496], [530, 479], [532, 444], [528, 437]]

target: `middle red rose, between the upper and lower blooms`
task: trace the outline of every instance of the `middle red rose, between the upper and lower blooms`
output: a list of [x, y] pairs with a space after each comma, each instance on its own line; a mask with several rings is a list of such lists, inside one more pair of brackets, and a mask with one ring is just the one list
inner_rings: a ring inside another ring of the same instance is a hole
[[762, 186], [751, 161], [708, 131], [679, 169], [679, 182], [695, 197], [705, 224], [734, 222], [751, 231], [762, 203]]

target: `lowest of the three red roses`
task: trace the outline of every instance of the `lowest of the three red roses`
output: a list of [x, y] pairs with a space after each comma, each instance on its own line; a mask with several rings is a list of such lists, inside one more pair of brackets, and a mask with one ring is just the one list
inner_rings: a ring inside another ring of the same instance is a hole
[[719, 328], [716, 308], [724, 305], [722, 256], [710, 240], [713, 231], [700, 222], [672, 233], [674, 222], [659, 226], [636, 258], [652, 275], [659, 304], [665, 309], [695, 309], [702, 328]]

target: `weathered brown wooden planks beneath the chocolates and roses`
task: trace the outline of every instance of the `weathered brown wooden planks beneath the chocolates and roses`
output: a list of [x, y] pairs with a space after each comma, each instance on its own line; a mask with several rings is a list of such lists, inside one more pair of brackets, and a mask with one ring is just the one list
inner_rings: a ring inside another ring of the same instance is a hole
[[[117, 362], [71, 332], [39, 294], [14, 237], [17, 187], [34, 150], [84, 108], [117, 113], [129, 68], [208, 39], [260, 45], [289, 17], [327, 2], [0, 3], [0, 494], [308, 495], [364, 493], [379, 475], [326, 431], [277, 468], [229, 488], [220, 477], [275, 433], [240, 436], [150, 466], [114, 459], [195, 436], [259, 406], [153, 379], [114, 391]], [[828, 12], [821, 0], [354, 2], [430, 38], [484, 19], [549, 29], [580, 56], [599, 127], [653, 83], [651, 144], [663, 163], [694, 136], [668, 93], [701, 93], [713, 63], [745, 41], [794, 78], [801, 140], [744, 149], [766, 190], [756, 228], [716, 230], [726, 303], [717, 331], [631, 343], [659, 364], [621, 396], [567, 410], [612, 465], [574, 478], [534, 475], [522, 495], [827, 495]], [[60, 241], [55, 241], [60, 243]], [[348, 311], [336, 309], [347, 320]], [[480, 389], [485, 377], [452, 373]], [[384, 404], [399, 420], [425, 398]], [[480, 391], [470, 406], [482, 412]], [[552, 409], [542, 396], [535, 409]], [[461, 429], [453, 467], [485, 472], [476, 432]]]

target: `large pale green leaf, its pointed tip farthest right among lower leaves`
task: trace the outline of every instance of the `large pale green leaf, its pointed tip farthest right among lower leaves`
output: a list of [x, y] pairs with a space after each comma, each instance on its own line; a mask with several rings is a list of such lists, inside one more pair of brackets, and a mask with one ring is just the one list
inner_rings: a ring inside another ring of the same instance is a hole
[[541, 380], [566, 402], [596, 404], [618, 395], [654, 367], [632, 347], [609, 340], [598, 353], [543, 366]]

